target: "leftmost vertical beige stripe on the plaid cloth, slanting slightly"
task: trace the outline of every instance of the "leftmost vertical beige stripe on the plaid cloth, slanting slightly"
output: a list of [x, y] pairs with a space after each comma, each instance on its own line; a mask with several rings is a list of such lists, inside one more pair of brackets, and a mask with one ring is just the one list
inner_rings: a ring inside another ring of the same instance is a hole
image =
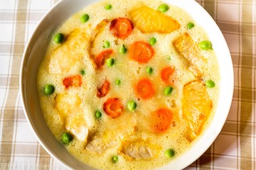
[[[19, 68], [20, 68], [20, 61], [21, 61], [21, 51], [23, 49], [23, 46], [16, 45], [15, 42], [24, 42], [24, 33], [25, 33], [25, 24], [26, 21], [26, 15], [23, 15], [23, 13], [20, 12], [21, 9], [26, 9], [28, 2], [26, 0], [17, 1], [18, 3], [18, 10], [16, 11], [15, 20], [16, 25], [14, 26], [13, 35], [14, 35], [14, 45], [12, 45], [11, 48], [11, 55], [13, 56], [13, 59], [16, 61], [9, 64], [11, 65], [11, 73], [18, 75]], [[12, 142], [14, 138], [14, 126], [15, 126], [15, 113], [16, 108], [11, 108], [11, 106], [16, 106], [16, 99], [18, 97], [18, 89], [14, 87], [18, 87], [18, 79], [17, 77], [9, 77], [7, 80], [9, 83], [9, 90], [6, 94], [6, 105], [4, 106], [5, 109], [1, 113], [1, 118], [3, 118], [3, 126], [2, 126], [2, 132], [1, 132], [1, 155], [0, 158], [2, 161], [6, 163], [6, 166], [11, 166], [11, 154], [15, 151], [15, 145], [14, 142]]]

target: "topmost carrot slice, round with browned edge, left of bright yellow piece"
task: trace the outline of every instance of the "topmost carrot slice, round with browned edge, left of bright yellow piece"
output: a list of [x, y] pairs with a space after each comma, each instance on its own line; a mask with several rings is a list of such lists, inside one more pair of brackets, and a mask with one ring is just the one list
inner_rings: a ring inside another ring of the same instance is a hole
[[115, 18], [110, 24], [110, 31], [112, 34], [121, 39], [127, 38], [133, 30], [132, 21], [127, 18]]

